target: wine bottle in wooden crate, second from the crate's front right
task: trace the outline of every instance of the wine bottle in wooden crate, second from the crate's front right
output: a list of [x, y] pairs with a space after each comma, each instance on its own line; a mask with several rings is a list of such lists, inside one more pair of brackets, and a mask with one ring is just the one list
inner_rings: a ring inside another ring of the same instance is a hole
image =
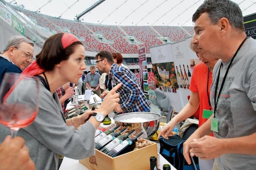
[[136, 132], [134, 129], [132, 129], [128, 134], [120, 135], [119, 137], [111, 141], [109, 144], [107, 144], [105, 147], [103, 147], [100, 151], [106, 154], [109, 153], [114, 147], [118, 146], [118, 144], [122, 143], [125, 139], [131, 137], [134, 133]]

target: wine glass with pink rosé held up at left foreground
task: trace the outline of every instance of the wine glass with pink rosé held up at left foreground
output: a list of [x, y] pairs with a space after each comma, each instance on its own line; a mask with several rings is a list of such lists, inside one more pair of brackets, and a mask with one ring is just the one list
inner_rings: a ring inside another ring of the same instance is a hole
[[30, 125], [39, 106], [39, 78], [5, 73], [0, 86], [0, 123], [9, 127], [12, 138]]

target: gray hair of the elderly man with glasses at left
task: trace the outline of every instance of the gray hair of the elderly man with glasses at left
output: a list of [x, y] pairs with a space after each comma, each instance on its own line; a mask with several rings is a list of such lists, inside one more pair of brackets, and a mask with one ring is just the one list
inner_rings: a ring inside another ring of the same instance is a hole
[[11, 46], [14, 46], [16, 48], [19, 48], [19, 46], [21, 45], [22, 42], [25, 42], [25, 43], [28, 43], [30, 45], [32, 45], [34, 47], [34, 43], [30, 40], [28, 40], [26, 37], [23, 37], [23, 36], [13, 36], [11, 37], [5, 48], [4, 48], [4, 52], [5, 51], [8, 51], [10, 49]]

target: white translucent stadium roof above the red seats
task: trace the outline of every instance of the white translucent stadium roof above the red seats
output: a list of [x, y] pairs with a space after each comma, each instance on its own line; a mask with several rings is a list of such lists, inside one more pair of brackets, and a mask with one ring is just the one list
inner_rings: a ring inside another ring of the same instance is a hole
[[[124, 26], [193, 26], [191, 17], [204, 0], [7, 0], [41, 14], [87, 23]], [[233, 0], [243, 15], [255, 13], [256, 0]], [[99, 5], [97, 3], [101, 2]]]

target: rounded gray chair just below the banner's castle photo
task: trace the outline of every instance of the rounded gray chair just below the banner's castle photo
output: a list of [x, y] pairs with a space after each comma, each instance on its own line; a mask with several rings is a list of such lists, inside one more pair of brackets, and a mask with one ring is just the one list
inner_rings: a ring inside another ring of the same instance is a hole
[[161, 115], [164, 115], [164, 111], [167, 111], [169, 109], [169, 98], [164, 94], [163, 91], [155, 90], [155, 99], [154, 99], [154, 105], [158, 106], [158, 108], [161, 110]]

